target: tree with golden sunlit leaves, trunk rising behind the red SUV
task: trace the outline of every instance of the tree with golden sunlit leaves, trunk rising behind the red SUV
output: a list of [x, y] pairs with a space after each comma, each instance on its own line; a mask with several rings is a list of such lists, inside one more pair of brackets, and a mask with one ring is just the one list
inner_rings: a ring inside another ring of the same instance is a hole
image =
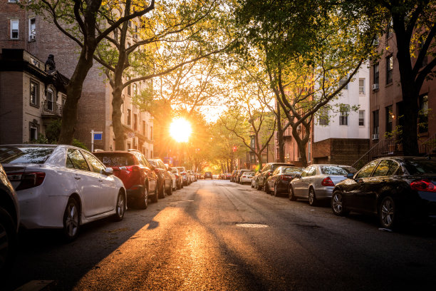
[[[223, 48], [208, 41], [207, 34], [204, 33], [212, 30], [211, 26], [216, 20], [213, 18], [217, 17], [212, 12], [217, 11], [218, 4], [218, 1], [168, 2], [157, 6], [147, 18], [123, 23], [119, 29], [115, 29], [113, 35], [106, 36], [107, 41], [100, 44], [95, 59], [103, 65], [113, 88], [112, 120], [116, 150], [125, 149], [121, 122], [124, 88], [152, 78], [159, 80], [172, 71], [184, 70], [184, 66], [189, 63], [197, 63], [201, 58], [222, 51]], [[115, 11], [108, 22], [115, 22], [117, 15], [130, 13], [130, 0], [127, 0], [126, 5]], [[197, 37], [197, 34], [203, 36]], [[145, 92], [145, 96], [152, 96], [150, 89], [152, 87]], [[140, 103], [142, 95], [134, 98]], [[170, 106], [171, 98], [168, 106], [163, 100], [160, 105], [165, 108]], [[167, 122], [157, 120], [157, 126], [165, 128]]]

